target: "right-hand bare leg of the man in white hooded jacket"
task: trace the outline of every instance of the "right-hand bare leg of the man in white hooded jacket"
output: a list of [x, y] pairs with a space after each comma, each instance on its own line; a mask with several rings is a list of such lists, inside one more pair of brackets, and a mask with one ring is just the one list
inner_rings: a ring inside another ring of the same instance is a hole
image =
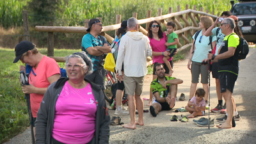
[[141, 99], [140, 95], [135, 95], [135, 100], [136, 100], [136, 108], [138, 109], [138, 113], [139, 113], [139, 118], [136, 121], [136, 124], [144, 125], [144, 123], [143, 123], [143, 108], [144, 108], [143, 100]]

